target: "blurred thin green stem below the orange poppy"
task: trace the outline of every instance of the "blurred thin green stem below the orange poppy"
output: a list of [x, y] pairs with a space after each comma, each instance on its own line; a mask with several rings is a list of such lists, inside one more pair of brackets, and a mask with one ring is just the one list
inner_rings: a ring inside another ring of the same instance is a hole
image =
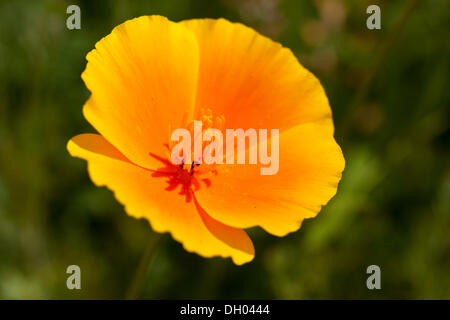
[[150, 268], [152, 262], [155, 259], [155, 253], [157, 251], [158, 244], [161, 242], [162, 235], [156, 233], [152, 236], [149, 244], [145, 248], [145, 252], [141, 257], [141, 261], [136, 269], [134, 278], [128, 287], [127, 293], [125, 295], [126, 300], [138, 299], [141, 293], [142, 286], [145, 282], [145, 276], [148, 269]]

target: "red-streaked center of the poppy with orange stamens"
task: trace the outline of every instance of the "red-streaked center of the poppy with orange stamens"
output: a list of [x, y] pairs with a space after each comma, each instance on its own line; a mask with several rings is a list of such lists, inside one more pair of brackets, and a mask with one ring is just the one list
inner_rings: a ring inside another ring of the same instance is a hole
[[[187, 115], [185, 115], [182, 120], [182, 127], [186, 128], [191, 133], [191, 145], [194, 145], [196, 139], [203, 139], [203, 134], [207, 129], [215, 128], [222, 130], [224, 128], [224, 116], [213, 117], [210, 109], [202, 109], [200, 114], [200, 120], [198, 121], [202, 121], [201, 132], [194, 130], [194, 121], [187, 122]], [[194, 152], [191, 154], [191, 159], [194, 159], [191, 163], [186, 163], [184, 158], [177, 159], [177, 161], [171, 159], [172, 148], [176, 144], [176, 142], [173, 142], [170, 139], [171, 134], [172, 131], [169, 128], [169, 143], [164, 145], [167, 149], [166, 157], [160, 157], [150, 153], [150, 156], [154, 157], [164, 165], [163, 167], [156, 169], [152, 176], [167, 178], [166, 182], [168, 186], [165, 190], [175, 191], [179, 189], [179, 194], [186, 197], [186, 202], [191, 202], [195, 191], [199, 190], [202, 186], [209, 187], [211, 185], [211, 178], [218, 174], [218, 168], [216, 164], [206, 164], [195, 161]]]

